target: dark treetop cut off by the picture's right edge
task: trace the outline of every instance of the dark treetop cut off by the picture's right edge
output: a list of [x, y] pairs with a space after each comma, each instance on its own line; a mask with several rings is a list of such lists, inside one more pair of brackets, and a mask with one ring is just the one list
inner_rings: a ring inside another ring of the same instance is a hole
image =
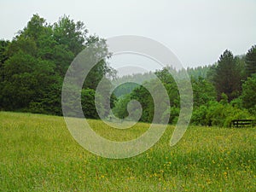
[[251, 49], [247, 51], [246, 55], [246, 74], [247, 77], [256, 73], [256, 45], [253, 45]]

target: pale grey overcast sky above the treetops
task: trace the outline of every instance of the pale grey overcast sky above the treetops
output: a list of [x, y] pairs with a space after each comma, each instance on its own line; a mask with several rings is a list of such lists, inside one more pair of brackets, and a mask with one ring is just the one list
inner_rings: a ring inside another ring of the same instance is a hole
[[102, 38], [153, 38], [184, 67], [212, 64], [224, 49], [241, 55], [256, 44], [255, 0], [0, 0], [0, 6], [0, 38], [12, 39], [33, 14], [49, 23], [65, 14]]

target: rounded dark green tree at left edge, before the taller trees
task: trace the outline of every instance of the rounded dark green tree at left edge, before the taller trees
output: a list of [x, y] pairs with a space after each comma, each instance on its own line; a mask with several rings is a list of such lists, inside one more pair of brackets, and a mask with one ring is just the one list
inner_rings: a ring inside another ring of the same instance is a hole
[[55, 64], [19, 51], [4, 63], [3, 107], [9, 110], [29, 108], [39, 102], [55, 82]]

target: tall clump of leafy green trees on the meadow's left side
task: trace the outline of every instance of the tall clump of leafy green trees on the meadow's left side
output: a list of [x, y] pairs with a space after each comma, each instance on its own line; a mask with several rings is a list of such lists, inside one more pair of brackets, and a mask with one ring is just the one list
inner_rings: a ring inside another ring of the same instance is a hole
[[[33, 15], [12, 42], [1, 40], [0, 109], [61, 115], [62, 81], [74, 57], [91, 43], [99, 46], [96, 54], [108, 52], [103, 39], [86, 34], [83, 22], [66, 15], [53, 25]], [[102, 58], [85, 80], [82, 101], [86, 117], [97, 118], [95, 92], [90, 89], [96, 90], [108, 73], [114, 74], [113, 69]]]

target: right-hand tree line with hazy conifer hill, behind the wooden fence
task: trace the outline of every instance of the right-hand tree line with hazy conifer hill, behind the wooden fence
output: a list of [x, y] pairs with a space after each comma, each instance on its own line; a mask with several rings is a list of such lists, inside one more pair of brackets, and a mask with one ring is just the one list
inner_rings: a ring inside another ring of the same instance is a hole
[[[166, 109], [169, 115], [169, 123], [177, 122], [180, 101], [177, 84], [170, 73], [176, 73], [182, 79], [184, 73], [189, 73], [191, 79], [194, 110], [191, 123], [194, 125], [218, 125], [230, 126], [232, 119], [255, 119], [256, 116], [256, 46], [253, 45], [246, 55], [234, 56], [228, 49], [220, 55], [218, 61], [212, 66], [187, 68], [177, 71], [172, 67], [166, 67], [156, 71], [154, 74], [164, 84], [172, 108]], [[134, 74], [137, 76], [142, 75]], [[132, 77], [122, 77], [132, 79]], [[122, 84], [115, 92], [123, 91], [115, 103], [113, 112], [119, 118], [128, 116], [125, 108], [131, 100], [138, 100], [143, 107], [141, 121], [150, 122], [154, 116], [154, 102], [145, 89], [145, 84], [154, 86], [155, 79], [147, 80], [142, 85], [131, 83]], [[128, 93], [127, 93], [128, 92]]]

